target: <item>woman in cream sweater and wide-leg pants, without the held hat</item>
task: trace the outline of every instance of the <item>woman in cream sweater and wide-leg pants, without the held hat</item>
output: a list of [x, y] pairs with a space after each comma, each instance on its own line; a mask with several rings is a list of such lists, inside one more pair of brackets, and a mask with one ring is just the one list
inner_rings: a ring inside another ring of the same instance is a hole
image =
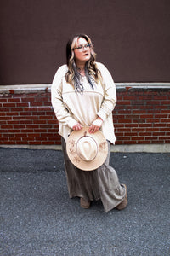
[[[66, 153], [71, 131], [89, 126], [89, 132], [102, 131], [109, 147], [115, 143], [112, 111], [116, 106], [116, 87], [107, 68], [95, 61], [94, 46], [87, 35], [80, 34], [66, 45], [67, 65], [59, 67], [52, 84], [52, 105], [59, 121], [59, 134], [65, 159], [70, 197], [80, 197], [83, 208], [101, 199], [105, 212], [127, 206], [127, 187], [120, 184], [116, 171], [105, 163], [94, 171], [74, 166]], [[110, 152], [110, 150], [109, 150]]]

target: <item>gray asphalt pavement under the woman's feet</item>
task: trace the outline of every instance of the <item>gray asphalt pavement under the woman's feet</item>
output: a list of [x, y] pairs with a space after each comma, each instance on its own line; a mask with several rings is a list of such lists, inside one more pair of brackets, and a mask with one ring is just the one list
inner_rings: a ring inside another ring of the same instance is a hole
[[1, 256], [170, 255], [170, 153], [111, 153], [128, 206], [82, 209], [57, 150], [0, 148]]

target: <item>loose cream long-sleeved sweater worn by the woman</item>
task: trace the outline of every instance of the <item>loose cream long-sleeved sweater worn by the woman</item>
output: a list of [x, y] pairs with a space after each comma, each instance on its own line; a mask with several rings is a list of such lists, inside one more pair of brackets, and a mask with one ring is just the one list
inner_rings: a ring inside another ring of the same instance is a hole
[[51, 99], [59, 121], [59, 134], [65, 141], [77, 122], [89, 126], [98, 116], [104, 121], [100, 130], [105, 138], [111, 143], [116, 141], [112, 120], [112, 111], [116, 106], [116, 86], [108, 69], [99, 62], [96, 64], [102, 74], [103, 83], [95, 84], [92, 89], [86, 77], [83, 77], [83, 93], [77, 93], [71, 84], [66, 83], [66, 65], [59, 67], [55, 73]]

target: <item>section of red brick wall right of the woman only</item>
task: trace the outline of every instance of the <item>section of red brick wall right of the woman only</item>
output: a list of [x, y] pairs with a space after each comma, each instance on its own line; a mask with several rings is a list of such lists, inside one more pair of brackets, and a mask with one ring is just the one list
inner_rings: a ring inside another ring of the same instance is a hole
[[170, 143], [170, 90], [117, 90], [116, 144]]

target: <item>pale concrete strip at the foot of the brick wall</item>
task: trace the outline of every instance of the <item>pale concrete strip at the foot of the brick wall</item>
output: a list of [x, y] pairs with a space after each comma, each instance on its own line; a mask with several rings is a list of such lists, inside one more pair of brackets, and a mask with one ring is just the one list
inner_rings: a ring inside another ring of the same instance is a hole
[[[1, 145], [0, 148], [53, 149], [62, 150], [61, 145]], [[170, 144], [140, 144], [111, 146], [116, 153], [170, 153]]]

